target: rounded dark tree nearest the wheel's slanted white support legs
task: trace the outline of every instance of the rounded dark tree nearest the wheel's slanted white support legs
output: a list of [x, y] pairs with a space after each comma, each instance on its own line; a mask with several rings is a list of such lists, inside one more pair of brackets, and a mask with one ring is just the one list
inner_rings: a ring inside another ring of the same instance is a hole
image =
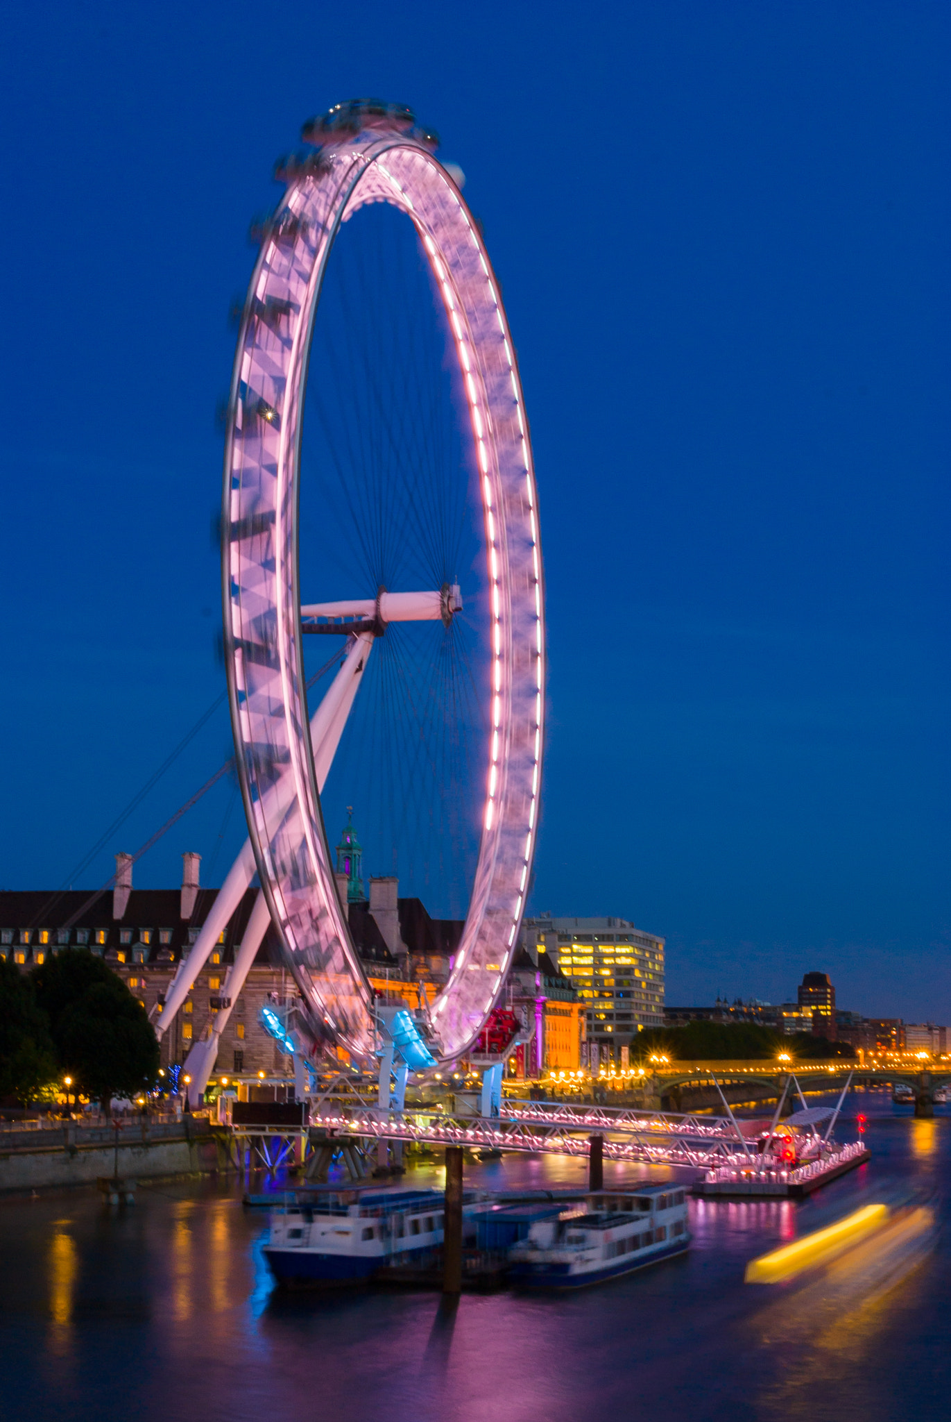
[[122, 978], [85, 948], [60, 953], [34, 977], [61, 1066], [78, 1092], [98, 1099], [108, 1115], [112, 1096], [152, 1089], [158, 1041]]

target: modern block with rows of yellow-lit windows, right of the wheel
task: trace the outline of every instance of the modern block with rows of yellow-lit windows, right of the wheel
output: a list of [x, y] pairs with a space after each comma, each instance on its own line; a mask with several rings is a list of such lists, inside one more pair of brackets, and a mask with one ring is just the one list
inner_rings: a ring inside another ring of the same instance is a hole
[[526, 919], [529, 953], [546, 951], [580, 998], [587, 1041], [603, 1058], [664, 1025], [664, 939], [627, 919]]

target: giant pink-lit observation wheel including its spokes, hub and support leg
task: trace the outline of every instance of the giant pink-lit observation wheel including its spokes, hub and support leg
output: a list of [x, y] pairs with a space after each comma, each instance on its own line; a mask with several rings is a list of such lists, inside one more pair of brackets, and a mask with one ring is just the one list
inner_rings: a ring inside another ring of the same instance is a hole
[[[316, 1049], [371, 1059], [372, 991], [321, 795], [341, 742], [357, 774], [382, 739], [382, 691], [370, 691], [378, 675], [395, 687], [394, 724], [411, 728], [402, 749], [389, 744], [404, 781], [371, 775], [389, 785], [402, 826], [394, 862], [411, 819], [429, 826], [439, 855], [456, 839], [471, 845], [461, 940], [431, 1004], [434, 1051], [448, 1061], [472, 1045], [502, 990], [537, 830], [544, 621], [529, 428], [499, 286], [462, 175], [434, 156], [435, 135], [407, 108], [353, 101], [304, 125], [303, 138], [307, 151], [279, 164], [286, 193], [259, 232], [226, 425], [225, 648], [249, 842], [189, 977], [257, 872], [242, 953], [253, 957], [270, 920]], [[424, 276], [401, 284], [394, 252], [407, 242], [407, 270], [418, 259]], [[347, 270], [362, 284], [347, 287]], [[394, 293], [402, 304], [384, 330]], [[414, 334], [428, 300], [442, 347]], [[361, 321], [371, 334], [347, 353]], [[465, 675], [448, 674], [466, 638]], [[316, 646], [343, 650], [311, 710], [306, 650]], [[409, 648], [402, 664], [399, 647]], [[465, 755], [461, 727], [471, 728]], [[442, 754], [446, 745], [456, 751]], [[429, 803], [446, 799], [455, 820]]]

